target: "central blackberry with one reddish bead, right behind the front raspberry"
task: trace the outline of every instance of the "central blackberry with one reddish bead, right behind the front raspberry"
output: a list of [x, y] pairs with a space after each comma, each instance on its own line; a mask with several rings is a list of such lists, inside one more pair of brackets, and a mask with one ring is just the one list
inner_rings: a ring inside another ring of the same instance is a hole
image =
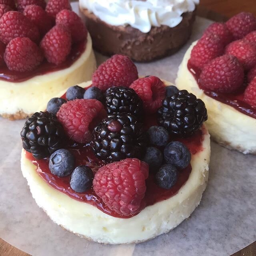
[[92, 149], [96, 157], [106, 162], [140, 159], [145, 148], [142, 123], [132, 114], [112, 114], [94, 128]]

